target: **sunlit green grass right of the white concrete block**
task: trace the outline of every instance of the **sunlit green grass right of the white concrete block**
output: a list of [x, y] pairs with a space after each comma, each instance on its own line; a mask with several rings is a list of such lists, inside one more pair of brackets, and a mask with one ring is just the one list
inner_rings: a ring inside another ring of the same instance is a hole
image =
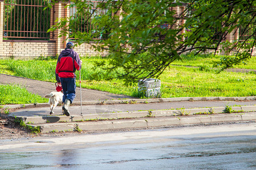
[[255, 96], [255, 74], [215, 74], [198, 68], [172, 67], [160, 76], [164, 97]]

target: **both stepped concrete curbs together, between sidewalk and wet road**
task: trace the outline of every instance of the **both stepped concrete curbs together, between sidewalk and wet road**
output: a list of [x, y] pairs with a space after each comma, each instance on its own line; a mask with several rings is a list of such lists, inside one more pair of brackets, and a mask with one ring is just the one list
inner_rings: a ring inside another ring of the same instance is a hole
[[[179, 109], [164, 111], [141, 111], [122, 113], [101, 113], [85, 114], [83, 116], [38, 116], [21, 118], [29, 126], [40, 126], [42, 133], [51, 131], [73, 131], [81, 130], [106, 130], [125, 128], [155, 128], [169, 127], [191, 124], [206, 124], [230, 121], [254, 121], [255, 113], [244, 113], [246, 111], [255, 112], [256, 106], [231, 107], [231, 111], [238, 113], [225, 113], [225, 107], [219, 108], [199, 108], [199, 109]], [[222, 114], [218, 114], [222, 113]], [[123, 118], [134, 118], [133, 120], [123, 120]], [[144, 118], [144, 120], [142, 120]], [[97, 121], [95, 121], [97, 120]], [[101, 120], [101, 121], [98, 121]]]

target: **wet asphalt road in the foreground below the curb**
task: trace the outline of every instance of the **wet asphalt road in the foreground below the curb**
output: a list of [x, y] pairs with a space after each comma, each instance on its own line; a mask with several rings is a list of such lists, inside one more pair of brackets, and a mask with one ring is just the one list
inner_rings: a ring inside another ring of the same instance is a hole
[[0, 142], [0, 169], [255, 169], [256, 123]]

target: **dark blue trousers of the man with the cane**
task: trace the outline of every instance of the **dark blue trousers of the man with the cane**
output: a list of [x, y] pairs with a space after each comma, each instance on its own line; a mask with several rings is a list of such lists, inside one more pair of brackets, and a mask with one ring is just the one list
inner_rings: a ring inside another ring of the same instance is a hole
[[72, 103], [76, 97], [76, 78], [60, 78], [60, 82], [63, 89], [62, 101], [69, 99]]

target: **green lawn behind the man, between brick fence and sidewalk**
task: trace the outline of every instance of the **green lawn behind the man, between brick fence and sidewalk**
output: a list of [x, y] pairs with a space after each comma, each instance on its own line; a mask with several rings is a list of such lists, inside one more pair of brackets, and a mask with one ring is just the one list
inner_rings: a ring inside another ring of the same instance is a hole
[[[216, 74], [214, 70], [210, 69], [212, 61], [217, 61], [220, 57], [210, 55], [182, 56], [183, 61], [175, 61], [159, 77], [162, 82], [162, 97], [256, 96], [255, 73], [223, 71], [220, 74]], [[121, 80], [93, 80], [90, 78], [90, 75], [95, 71], [93, 63], [102, 59], [93, 57], [82, 57], [81, 59], [82, 87], [141, 97], [138, 94], [137, 84], [124, 86]], [[31, 61], [1, 59], [0, 66], [2, 68], [0, 73], [55, 82], [56, 59], [34, 59]], [[252, 57], [250, 61], [247, 61], [247, 65], [240, 65], [237, 68], [256, 69], [256, 57]], [[98, 68], [98, 70], [101, 70], [101, 68]], [[76, 75], [79, 76], [79, 72]], [[79, 86], [79, 81], [77, 81], [77, 86]], [[40, 101], [33, 101], [32, 103], [34, 102], [39, 103]]]

